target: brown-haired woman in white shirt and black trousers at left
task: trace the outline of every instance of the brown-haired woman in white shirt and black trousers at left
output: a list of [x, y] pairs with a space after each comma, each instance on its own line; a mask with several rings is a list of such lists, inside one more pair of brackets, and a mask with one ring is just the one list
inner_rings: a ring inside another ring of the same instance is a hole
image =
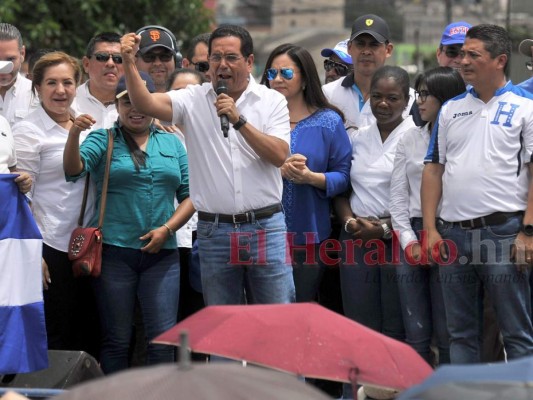
[[[74, 116], [71, 105], [81, 70], [62, 52], [43, 55], [33, 68], [40, 105], [13, 125], [18, 167], [30, 174], [32, 211], [43, 236], [44, 309], [48, 348], [98, 356], [99, 327], [88, 279], [74, 279], [67, 250], [77, 226], [84, 181], [65, 181], [63, 148]], [[81, 135], [84, 140], [87, 133]], [[92, 202], [87, 218], [92, 215]]]

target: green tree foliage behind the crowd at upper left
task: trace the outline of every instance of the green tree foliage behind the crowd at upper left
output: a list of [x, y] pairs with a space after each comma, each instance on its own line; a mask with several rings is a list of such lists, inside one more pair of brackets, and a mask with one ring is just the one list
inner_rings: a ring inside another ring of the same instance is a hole
[[202, 0], [1, 0], [0, 21], [15, 25], [26, 48], [63, 50], [80, 57], [97, 33], [163, 25], [184, 46], [214, 23]]

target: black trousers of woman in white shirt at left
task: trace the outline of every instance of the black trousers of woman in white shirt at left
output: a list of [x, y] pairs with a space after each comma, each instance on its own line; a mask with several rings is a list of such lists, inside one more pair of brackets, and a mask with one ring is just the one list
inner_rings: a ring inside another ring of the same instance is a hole
[[44, 290], [44, 313], [50, 350], [100, 354], [100, 323], [88, 277], [74, 278], [67, 253], [43, 245], [51, 282]]

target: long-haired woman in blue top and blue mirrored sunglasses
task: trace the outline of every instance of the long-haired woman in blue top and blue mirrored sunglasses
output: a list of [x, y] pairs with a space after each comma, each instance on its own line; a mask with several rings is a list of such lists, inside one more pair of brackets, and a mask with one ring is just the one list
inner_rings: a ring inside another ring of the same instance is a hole
[[313, 301], [327, 259], [330, 199], [348, 187], [350, 142], [344, 116], [324, 96], [307, 50], [282, 44], [268, 57], [262, 84], [285, 96], [291, 155], [281, 167], [296, 301]]

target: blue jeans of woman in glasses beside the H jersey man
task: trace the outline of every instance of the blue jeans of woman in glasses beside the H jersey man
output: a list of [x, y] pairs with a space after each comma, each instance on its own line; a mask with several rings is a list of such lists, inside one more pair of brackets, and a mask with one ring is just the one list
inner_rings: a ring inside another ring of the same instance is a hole
[[[443, 223], [437, 224], [444, 234]], [[420, 239], [422, 218], [412, 222]], [[431, 362], [431, 340], [435, 335], [439, 349], [439, 364], [450, 362], [450, 337], [446, 326], [446, 311], [439, 278], [439, 267], [410, 265], [405, 259], [398, 267], [398, 289], [405, 325], [405, 341], [428, 363]]]

